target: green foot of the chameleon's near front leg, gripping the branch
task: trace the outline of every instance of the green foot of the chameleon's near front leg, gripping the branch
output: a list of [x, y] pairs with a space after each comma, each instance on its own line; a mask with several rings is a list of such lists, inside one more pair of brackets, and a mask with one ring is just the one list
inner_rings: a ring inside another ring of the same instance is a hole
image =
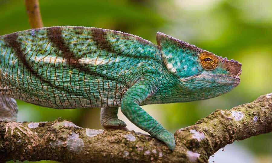
[[176, 143], [172, 133], [168, 132], [167, 130], [164, 130], [155, 137], [163, 141], [168, 146], [168, 148], [171, 149], [172, 151], [175, 149]]

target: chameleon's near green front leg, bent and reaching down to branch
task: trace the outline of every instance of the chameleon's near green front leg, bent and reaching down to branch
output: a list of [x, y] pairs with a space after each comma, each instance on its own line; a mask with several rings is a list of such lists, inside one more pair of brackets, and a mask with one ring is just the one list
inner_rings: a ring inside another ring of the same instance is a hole
[[157, 120], [139, 106], [152, 91], [147, 82], [139, 81], [125, 92], [121, 99], [121, 111], [136, 126], [163, 141], [168, 148], [174, 150], [176, 144], [173, 134], [164, 129]]

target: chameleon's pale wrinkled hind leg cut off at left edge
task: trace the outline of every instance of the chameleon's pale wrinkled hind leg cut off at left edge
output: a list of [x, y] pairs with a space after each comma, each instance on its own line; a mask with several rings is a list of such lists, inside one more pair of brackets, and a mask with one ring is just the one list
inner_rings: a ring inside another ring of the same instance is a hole
[[14, 98], [0, 95], [0, 120], [17, 121], [18, 107]]

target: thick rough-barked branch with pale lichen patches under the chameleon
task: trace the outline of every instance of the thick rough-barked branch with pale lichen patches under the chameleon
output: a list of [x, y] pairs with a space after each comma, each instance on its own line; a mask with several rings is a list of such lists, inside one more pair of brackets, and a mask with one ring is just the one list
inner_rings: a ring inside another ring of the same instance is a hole
[[60, 162], [208, 162], [235, 140], [272, 130], [272, 93], [215, 110], [174, 134], [172, 152], [161, 141], [125, 130], [83, 129], [72, 122], [0, 122], [0, 159]]

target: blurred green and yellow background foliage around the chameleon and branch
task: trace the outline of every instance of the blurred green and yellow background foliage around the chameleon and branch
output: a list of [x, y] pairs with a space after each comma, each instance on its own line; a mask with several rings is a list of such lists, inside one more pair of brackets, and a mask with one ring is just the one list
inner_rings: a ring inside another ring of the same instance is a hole
[[[156, 32], [161, 31], [240, 61], [240, 85], [225, 95], [204, 101], [144, 106], [172, 133], [194, 124], [217, 108], [230, 109], [272, 92], [271, 0], [40, 0], [40, 10], [44, 26], [120, 30], [153, 43], [156, 43]], [[29, 28], [23, 0], [0, 0], [0, 35]], [[99, 108], [55, 110], [17, 102], [19, 121], [39, 122], [62, 117], [79, 126], [102, 128]], [[119, 117], [129, 129], [140, 131], [120, 111]], [[268, 133], [227, 145], [209, 161], [265, 163], [271, 160], [272, 133]]]

